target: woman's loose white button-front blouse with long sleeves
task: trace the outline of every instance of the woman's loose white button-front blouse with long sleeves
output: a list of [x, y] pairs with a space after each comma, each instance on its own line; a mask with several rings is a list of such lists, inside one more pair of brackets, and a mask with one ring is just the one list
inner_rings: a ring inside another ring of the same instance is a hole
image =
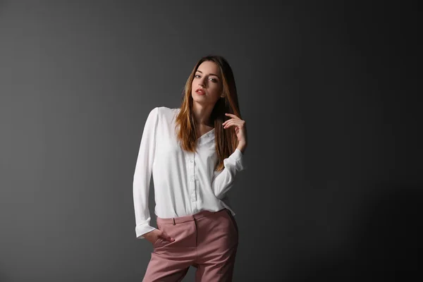
[[[160, 106], [150, 111], [142, 133], [140, 151], [133, 178], [135, 233], [153, 231], [148, 207], [151, 176], [154, 182], [154, 213], [161, 218], [196, 214], [202, 210], [217, 212], [231, 209], [226, 192], [235, 176], [246, 169], [240, 149], [224, 159], [223, 171], [214, 171], [217, 154], [214, 128], [197, 140], [197, 152], [187, 152], [176, 139], [175, 119], [180, 109]], [[178, 129], [178, 128], [176, 128]]]

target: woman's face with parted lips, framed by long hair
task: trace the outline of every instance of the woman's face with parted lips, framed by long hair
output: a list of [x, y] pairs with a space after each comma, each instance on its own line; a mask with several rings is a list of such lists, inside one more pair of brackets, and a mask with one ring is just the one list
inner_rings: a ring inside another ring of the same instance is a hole
[[[197, 90], [200, 89], [200, 92]], [[192, 80], [192, 99], [199, 104], [216, 104], [223, 90], [219, 66], [213, 61], [204, 61], [198, 66]]]

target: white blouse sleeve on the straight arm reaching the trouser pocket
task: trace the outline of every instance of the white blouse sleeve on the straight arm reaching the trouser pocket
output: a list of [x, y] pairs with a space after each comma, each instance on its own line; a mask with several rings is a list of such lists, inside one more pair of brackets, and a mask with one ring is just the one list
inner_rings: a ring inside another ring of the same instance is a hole
[[158, 107], [152, 109], [145, 122], [133, 177], [135, 234], [138, 239], [145, 238], [143, 234], [156, 229], [149, 225], [151, 218], [148, 198], [157, 135], [158, 111]]

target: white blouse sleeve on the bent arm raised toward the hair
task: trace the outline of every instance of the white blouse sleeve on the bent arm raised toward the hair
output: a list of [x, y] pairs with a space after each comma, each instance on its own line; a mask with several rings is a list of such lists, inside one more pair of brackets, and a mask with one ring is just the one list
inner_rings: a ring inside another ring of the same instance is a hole
[[[226, 192], [233, 187], [235, 183], [235, 176], [239, 171], [243, 171], [246, 169], [243, 160], [243, 152], [240, 149], [236, 148], [235, 152], [231, 154], [226, 159], [223, 159], [223, 171], [214, 172], [214, 177], [212, 180], [212, 189], [214, 195], [218, 199], [223, 199], [225, 197]], [[219, 173], [219, 174], [217, 174]]]

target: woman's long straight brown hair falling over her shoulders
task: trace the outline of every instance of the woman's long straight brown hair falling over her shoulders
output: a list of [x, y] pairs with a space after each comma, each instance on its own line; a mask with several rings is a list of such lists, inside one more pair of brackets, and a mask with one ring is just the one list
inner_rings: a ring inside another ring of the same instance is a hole
[[233, 71], [228, 61], [222, 56], [204, 56], [197, 61], [194, 68], [192, 68], [192, 72], [185, 83], [182, 104], [180, 105], [180, 111], [175, 120], [176, 127], [179, 125], [177, 138], [180, 141], [180, 147], [185, 149], [185, 151], [195, 152], [195, 148], [197, 147], [197, 132], [194, 115], [192, 114], [192, 80], [194, 80], [197, 68], [204, 61], [213, 61], [219, 66], [223, 84], [223, 97], [216, 102], [210, 116], [211, 120], [214, 121], [214, 144], [218, 159], [214, 166], [214, 170], [221, 171], [224, 168], [223, 159], [229, 157], [238, 146], [238, 137], [236, 137], [233, 127], [226, 130], [223, 129], [222, 123], [231, 118], [230, 116], [225, 116], [225, 113], [234, 114], [242, 119]]

